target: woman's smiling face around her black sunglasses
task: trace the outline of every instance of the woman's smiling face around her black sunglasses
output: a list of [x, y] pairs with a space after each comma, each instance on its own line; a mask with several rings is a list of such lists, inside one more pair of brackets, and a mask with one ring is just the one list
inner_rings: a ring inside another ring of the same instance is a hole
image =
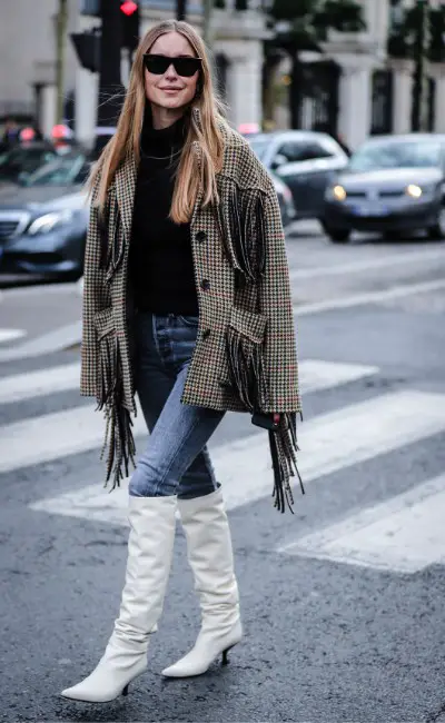
[[[168, 32], [160, 36], [148, 51], [149, 55], [168, 56], [169, 58], [195, 58], [192, 47], [179, 32]], [[145, 69], [146, 96], [155, 106], [168, 110], [177, 110], [191, 102], [196, 92], [199, 71], [187, 78], [179, 76], [170, 65], [164, 75], [157, 76]]]

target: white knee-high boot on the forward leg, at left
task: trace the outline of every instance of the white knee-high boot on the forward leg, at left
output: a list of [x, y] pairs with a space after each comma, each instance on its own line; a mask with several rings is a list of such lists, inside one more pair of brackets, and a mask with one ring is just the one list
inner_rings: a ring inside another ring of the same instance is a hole
[[127, 695], [128, 684], [147, 668], [150, 633], [162, 612], [175, 541], [177, 497], [129, 496], [130, 534], [119, 617], [92, 673], [63, 697], [106, 703]]

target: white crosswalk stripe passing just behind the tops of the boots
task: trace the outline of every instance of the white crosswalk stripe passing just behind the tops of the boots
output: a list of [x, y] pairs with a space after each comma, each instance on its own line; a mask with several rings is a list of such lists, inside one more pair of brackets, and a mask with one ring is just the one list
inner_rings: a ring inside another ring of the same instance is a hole
[[[306, 483], [445, 429], [445, 395], [403, 390], [360, 402], [301, 425], [299, 471]], [[21, 445], [20, 445], [21, 448]], [[1, 458], [1, 452], [0, 452]], [[265, 433], [212, 449], [228, 508], [270, 495]], [[42, 499], [33, 509], [125, 524], [126, 485], [107, 494], [100, 484]], [[299, 494], [296, 491], [296, 494]], [[297, 498], [297, 504], [301, 504]]]

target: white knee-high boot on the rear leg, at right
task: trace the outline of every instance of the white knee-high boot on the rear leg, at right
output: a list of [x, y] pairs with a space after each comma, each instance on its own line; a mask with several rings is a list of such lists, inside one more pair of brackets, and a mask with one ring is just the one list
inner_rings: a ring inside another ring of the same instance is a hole
[[205, 673], [210, 664], [243, 637], [238, 586], [230, 529], [218, 488], [195, 499], [178, 499], [187, 555], [201, 607], [201, 630], [192, 650], [162, 675], [187, 677]]

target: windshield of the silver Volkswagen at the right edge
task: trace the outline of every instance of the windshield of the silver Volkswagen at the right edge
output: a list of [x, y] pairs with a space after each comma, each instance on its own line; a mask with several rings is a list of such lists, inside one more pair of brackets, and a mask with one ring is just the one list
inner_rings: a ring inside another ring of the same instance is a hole
[[353, 153], [348, 169], [353, 171], [385, 168], [429, 168], [441, 162], [441, 143], [437, 140], [373, 141], [364, 143]]

